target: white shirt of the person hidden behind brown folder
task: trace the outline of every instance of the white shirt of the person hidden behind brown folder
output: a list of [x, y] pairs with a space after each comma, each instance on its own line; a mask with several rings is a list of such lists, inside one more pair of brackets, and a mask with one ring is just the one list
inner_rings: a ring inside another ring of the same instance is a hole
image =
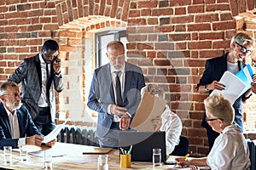
[[179, 144], [179, 137], [183, 130], [183, 123], [177, 114], [166, 105], [166, 110], [161, 115], [162, 126], [160, 131], [166, 131], [166, 147], [168, 154], [171, 154], [175, 146]]

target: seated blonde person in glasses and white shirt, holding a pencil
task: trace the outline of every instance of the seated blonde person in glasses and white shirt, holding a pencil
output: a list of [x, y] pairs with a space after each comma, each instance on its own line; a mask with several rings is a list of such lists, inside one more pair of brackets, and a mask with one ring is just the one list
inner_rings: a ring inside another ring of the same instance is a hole
[[[208, 166], [212, 170], [247, 170], [250, 168], [249, 149], [243, 134], [232, 124], [234, 111], [230, 102], [222, 94], [213, 94], [204, 101], [207, 122], [218, 133], [212, 150], [207, 157], [177, 158], [181, 167]], [[195, 169], [195, 167], [193, 168]]]

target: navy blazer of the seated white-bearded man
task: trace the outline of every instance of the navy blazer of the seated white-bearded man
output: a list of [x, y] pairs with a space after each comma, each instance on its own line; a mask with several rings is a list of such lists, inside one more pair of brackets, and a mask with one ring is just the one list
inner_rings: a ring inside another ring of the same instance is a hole
[[[20, 127], [20, 138], [30, 137], [34, 134], [44, 136], [38, 131], [38, 128], [32, 122], [32, 118], [24, 105], [21, 105], [20, 109], [17, 109], [17, 117]], [[13, 148], [18, 147], [19, 139], [12, 139], [11, 127], [9, 123], [9, 117], [3, 103], [0, 103], [0, 149], [3, 150], [3, 146], [11, 145]]]

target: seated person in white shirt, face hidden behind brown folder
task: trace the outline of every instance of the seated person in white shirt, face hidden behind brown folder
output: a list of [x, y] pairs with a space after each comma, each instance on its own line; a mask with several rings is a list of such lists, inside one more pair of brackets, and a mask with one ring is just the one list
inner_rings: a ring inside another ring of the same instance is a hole
[[[153, 84], [142, 88], [142, 96], [146, 92], [160, 98], [163, 97], [163, 89]], [[152, 123], [154, 124], [154, 131], [166, 131], [167, 153], [171, 154], [175, 152], [177, 156], [185, 156], [188, 153], [189, 149], [184, 149], [186, 147], [183, 148], [183, 144], [179, 145], [179, 139], [183, 129], [181, 119], [170, 110], [168, 105], [166, 105], [166, 109], [161, 116], [155, 117]]]

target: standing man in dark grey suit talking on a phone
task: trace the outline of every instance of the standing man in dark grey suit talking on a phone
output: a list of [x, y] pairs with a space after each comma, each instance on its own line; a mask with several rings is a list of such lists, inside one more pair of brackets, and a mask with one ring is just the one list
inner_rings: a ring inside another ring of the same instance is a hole
[[23, 59], [9, 77], [22, 84], [21, 101], [32, 116], [39, 131], [47, 135], [55, 128], [55, 90], [63, 90], [59, 45], [54, 40], [44, 42], [41, 53]]

